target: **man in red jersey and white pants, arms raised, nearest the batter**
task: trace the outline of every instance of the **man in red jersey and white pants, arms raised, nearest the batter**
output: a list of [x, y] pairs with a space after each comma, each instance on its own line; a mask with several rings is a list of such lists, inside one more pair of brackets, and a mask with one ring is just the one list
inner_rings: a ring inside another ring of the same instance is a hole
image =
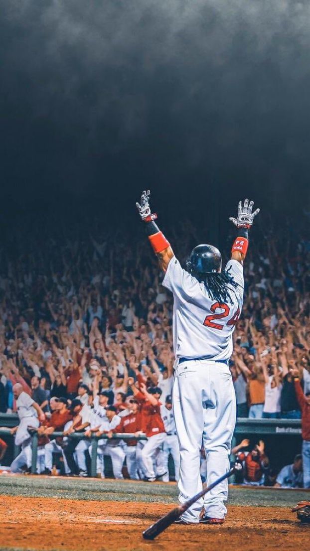
[[[162, 391], [158, 387], [146, 389], [144, 382], [140, 382], [140, 390], [138, 390], [132, 377], [129, 377], [128, 383], [136, 401], [140, 404], [141, 433], [147, 436], [147, 442], [141, 452], [145, 477], [148, 482], [154, 482], [165, 474], [163, 444], [166, 433], [161, 418], [162, 404], [159, 402]], [[156, 472], [154, 466], [156, 466]]]

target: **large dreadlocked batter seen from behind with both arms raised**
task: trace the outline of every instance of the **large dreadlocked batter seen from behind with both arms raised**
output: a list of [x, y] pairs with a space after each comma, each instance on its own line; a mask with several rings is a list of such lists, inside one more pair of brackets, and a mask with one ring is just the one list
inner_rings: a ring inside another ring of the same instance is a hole
[[[179, 500], [184, 503], [201, 491], [200, 446], [203, 439], [207, 457], [207, 484], [229, 469], [231, 439], [236, 422], [234, 394], [228, 360], [232, 354], [232, 333], [243, 304], [243, 261], [248, 249], [249, 229], [259, 209], [253, 201], [239, 203], [231, 260], [222, 270], [221, 253], [212, 245], [193, 249], [182, 269], [169, 242], [154, 222], [149, 191], [136, 203], [146, 225], [148, 239], [164, 272], [163, 286], [174, 297], [173, 341], [175, 375], [173, 408], [180, 442]], [[180, 523], [200, 521], [223, 523], [226, 515], [227, 480], [196, 501]]]

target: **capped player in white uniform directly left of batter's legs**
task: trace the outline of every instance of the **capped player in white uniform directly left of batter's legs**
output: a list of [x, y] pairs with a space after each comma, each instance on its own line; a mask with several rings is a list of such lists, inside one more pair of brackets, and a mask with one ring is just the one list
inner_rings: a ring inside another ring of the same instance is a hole
[[165, 404], [161, 406], [161, 416], [164, 422], [167, 438], [164, 442], [164, 466], [166, 474], [163, 476], [163, 482], [169, 482], [169, 455], [171, 453], [174, 462], [175, 480], [179, 480], [180, 476], [180, 447], [175, 428], [174, 415], [172, 409], [172, 396], [168, 395], [165, 399]]

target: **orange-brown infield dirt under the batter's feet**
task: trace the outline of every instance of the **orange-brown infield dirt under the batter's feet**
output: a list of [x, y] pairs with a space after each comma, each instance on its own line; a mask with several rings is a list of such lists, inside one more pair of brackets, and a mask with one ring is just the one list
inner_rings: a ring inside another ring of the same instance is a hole
[[308, 547], [310, 525], [300, 527], [285, 507], [231, 505], [225, 525], [172, 526], [154, 542], [141, 532], [170, 504], [0, 496], [0, 549], [35, 551], [281, 551]]

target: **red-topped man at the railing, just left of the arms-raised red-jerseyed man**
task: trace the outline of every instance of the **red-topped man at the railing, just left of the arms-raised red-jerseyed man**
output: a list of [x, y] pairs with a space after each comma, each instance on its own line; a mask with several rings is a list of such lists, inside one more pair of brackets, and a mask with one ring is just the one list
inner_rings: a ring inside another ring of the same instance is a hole
[[[116, 426], [113, 432], [135, 434], [135, 436], [138, 436], [141, 433], [141, 414], [138, 402], [130, 396], [126, 400], [126, 406], [130, 413], [121, 418], [120, 424]], [[137, 440], [125, 440], [125, 444], [124, 451], [126, 453], [128, 474], [133, 480], [138, 480]]]

